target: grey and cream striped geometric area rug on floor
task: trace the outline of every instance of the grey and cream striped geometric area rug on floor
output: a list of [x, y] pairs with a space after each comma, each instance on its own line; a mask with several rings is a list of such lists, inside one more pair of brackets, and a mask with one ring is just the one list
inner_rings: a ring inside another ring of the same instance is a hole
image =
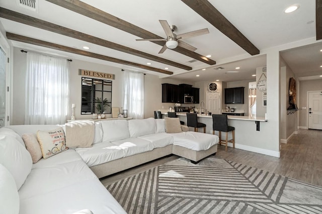
[[180, 158], [106, 188], [128, 213], [322, 213], [322, 187], [215, 156]]

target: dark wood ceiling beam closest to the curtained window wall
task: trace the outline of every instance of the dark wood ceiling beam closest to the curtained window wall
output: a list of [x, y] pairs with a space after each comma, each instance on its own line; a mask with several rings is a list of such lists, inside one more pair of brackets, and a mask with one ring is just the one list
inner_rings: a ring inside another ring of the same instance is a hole
[[162, 69], [158, 69], [158, 68], [149, 67], [149, 66], [146, 66], [146, 65], [141, 65], [141, 64], [138, 64], [138, 63], [134, 63], [134, 62], [129, 62], [129, 61], [121, 60], [121, 59], [116, 59], [116, 58], [113, 58], [113, 57], [109, 57], [109, 56], [105, 56], [105, 55], [101, 55], [101, 54], [97, 54], [97, 53], [78, 50], [76, 48], [70, 48], [70, 47], [66, 47], [66, 46], [63, 46], [63, 45], [54, 44], [54, 43], [51, 43], [51, 42], [46, 42], [46, 41], [42, 41], [42, 40], [30, 38], [30, 37], [21, 36], [21, 35], [18, 35], [18, 34], [13, 34], [13, 33], [7, 32], [6, 36], [10, 40], [24, 42], [24, 43], [28, 43], [28, 44], [32, 44], [32, 45], [38, 45], [38, 46], [51, 48], [51, 49], [64, 51], [64, 52], [69, 52], [69, 53], [73, 53], [73, 54], [88, 56], [88, 57], [92, 57], [92, 58], [96, 58], [96, 59], [102, 59], [102, 60], [105, 60], [105, 61], [115, 62], [115, 63], [119, 63], [119, 64], [123, 64], [123, 65], [129, 65], [129, 66], [132, 66], [132, 67], [142, 68], [142, 69], [145, 69], [145, 70], [155, 71], [155, 72], [159, 72], [159, 73], [164, 73], [164, 74], [169, 74], [169, 75], [173, 74], [173, 72], [171, 72], [171, 71], [166, 71], [166, 70], [162, 70]]

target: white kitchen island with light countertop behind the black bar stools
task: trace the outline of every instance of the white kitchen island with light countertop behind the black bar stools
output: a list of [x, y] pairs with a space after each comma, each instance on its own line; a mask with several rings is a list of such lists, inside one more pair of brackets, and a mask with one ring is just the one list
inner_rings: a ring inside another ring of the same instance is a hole
[[[167, 116], [167, 113], [163, 113], [163, 115]], [[177, 116], [180, 121], [187, 125], [186, 113], [177, 113]], [[206, 124], [206, 133], [212, 134], [212, 116], [204, 114], [197, 114], [197, 116], [198, 122]], [[235, 128], [235, 148], [279, 157], [279, 152], [270, 150], [264, 137], [270, 132], [267, 119], [248, 116], [227, 116], [227, 118], [228, 125]], [[194, 129], [189, 128], [189, 130], [193, 131]], [[218, 132], [216, 132], [216, 135], [218, 135]], [[224, 137], [223, 135], [223, 139]], [[228, 138], [231, 139], [231, 133], [229, 133]], [[232, 143], [228, 143], [228, 146], [232, 147]]]

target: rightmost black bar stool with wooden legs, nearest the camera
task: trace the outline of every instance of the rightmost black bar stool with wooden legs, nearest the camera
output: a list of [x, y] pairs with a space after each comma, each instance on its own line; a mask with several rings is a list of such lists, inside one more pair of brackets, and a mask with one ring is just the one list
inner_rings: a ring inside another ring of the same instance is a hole
[[[219, 145], [224, 144], [227, 152], [228, 142], [232, 143], [232, 147], [235, 148], [235, 128], [228, 126], [227, 115], [212, 115], [212, 134], [215, 131], [219, 131]], [[221, 132], [226, 133], [226, 139], [221, 140]], [[228, 140], [228, 132], [232, 132], [232, 139]]]

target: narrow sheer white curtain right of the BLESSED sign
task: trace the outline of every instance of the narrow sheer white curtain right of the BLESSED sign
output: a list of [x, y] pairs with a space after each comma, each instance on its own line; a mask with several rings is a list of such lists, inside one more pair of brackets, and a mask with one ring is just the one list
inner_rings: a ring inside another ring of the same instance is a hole
[[143, 119], [144, 114], [144, 74], [124, 71], [123, 109], [128, 117]]

